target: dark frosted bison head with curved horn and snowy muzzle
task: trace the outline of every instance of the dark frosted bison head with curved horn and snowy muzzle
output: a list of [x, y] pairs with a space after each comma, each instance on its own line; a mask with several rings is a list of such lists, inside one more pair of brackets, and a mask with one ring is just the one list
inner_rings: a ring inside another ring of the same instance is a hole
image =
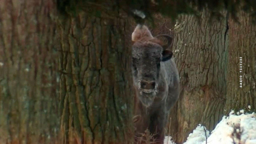
[[[163, 36], [167, 44], [154, 38], [146, 26], [138, 25], [132, 33], [132, 77], [138, 98], [145, 106], [150, 106], [158, 93], [160, 62], [170, 60], [172, 52], [166, 50], [172, 38]], [[156, 37], [158, 37], [156, 36]]]

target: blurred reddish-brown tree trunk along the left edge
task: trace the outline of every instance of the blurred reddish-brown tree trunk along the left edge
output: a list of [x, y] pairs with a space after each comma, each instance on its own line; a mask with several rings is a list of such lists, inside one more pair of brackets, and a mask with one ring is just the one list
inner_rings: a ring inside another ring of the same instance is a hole
[[1, 144], [57, 139], [54, 12], [51, 0], [0, 0]]

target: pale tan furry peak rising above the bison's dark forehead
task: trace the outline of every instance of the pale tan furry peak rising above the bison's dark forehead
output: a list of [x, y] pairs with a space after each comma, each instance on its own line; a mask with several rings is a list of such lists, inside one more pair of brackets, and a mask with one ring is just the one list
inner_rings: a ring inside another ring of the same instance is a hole
[[141, 39], [150, 40], [153, 39], [153, 36], [148, 27], [138, 24], [132, 33], [132, 41], [137, 42]]

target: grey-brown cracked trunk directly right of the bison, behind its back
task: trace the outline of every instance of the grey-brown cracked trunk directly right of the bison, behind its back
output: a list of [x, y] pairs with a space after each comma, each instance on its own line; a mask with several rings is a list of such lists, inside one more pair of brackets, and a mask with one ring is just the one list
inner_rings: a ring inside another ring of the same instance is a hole
[[181, 93], [170, 112], [170, 134], [182, 143], [197, 124], [208, 130], [223, 116], [227, 93], [227, 20], [209, 23], [202, 12], [200, 22], [182, 15], [175, 27], [173, 52], [180, 74]]

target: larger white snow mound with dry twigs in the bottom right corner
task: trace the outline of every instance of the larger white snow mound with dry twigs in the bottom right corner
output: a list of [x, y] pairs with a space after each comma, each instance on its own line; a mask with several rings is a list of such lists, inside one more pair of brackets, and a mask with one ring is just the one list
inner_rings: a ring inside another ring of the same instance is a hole
[[223, 116], [212, 131], [207, 144], [251, 144], [251, 140], [256, 140], [255, 116], [255, 113]]

